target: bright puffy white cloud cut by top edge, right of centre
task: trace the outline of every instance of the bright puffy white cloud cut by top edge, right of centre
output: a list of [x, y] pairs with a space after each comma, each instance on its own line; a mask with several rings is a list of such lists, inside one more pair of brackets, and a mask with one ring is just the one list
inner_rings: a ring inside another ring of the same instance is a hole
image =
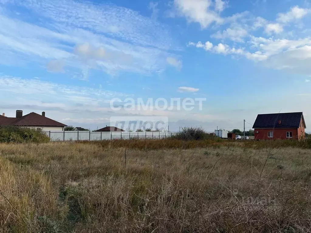
[[[220, 10], [221, 3], [216, 7]], [[174, 0], [176, 10], [185, 16], [189, 22], [198, 22], [202, 28], [206, 28], [211, 23], [222, 23], [224, 20], [218, 13], [211, 9], [211, 0]]]

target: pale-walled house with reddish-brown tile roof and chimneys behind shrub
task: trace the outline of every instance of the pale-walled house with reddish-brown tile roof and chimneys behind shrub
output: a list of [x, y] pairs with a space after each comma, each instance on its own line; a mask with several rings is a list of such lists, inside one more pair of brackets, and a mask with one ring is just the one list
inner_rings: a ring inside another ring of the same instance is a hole
[[45, 112], [42, 112], [41, 115], [30, 112], [23, 116], [22, 110], [16, 110], [16, 117], [6, 117], [4, 113], [0, 115], [0, 127], [3, 126], [21, 126], [42, 131], [62, 131], [67, 125], [45, 117]]

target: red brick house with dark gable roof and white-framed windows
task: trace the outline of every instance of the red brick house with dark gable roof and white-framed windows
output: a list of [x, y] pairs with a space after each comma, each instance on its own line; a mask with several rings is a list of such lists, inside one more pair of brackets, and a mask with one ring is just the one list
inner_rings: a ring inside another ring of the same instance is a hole
[[302, 112], [258, 114], [253, 125], [255, 139], [304, 139]]

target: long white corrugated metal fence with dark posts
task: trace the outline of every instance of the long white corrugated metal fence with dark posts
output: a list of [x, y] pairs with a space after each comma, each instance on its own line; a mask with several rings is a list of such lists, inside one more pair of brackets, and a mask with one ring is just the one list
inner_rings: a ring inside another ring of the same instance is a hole
[[174, 135], [171, 132], [91, 132], [44, 131], [50, 141], [100, 141], [113, 139], [162, 139]]

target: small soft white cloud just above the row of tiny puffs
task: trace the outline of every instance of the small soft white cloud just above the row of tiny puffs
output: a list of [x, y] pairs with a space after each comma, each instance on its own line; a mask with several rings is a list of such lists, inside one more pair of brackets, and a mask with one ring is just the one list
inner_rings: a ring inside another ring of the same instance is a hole
[[248, 31], [239, 25], [227, 28], [222, 32], [217, 31], [215, 34], [211, 35], [211, 38], [216, 39], [230, 39], [234, 42], [244, 42], [243, 38], [248, 36]]

